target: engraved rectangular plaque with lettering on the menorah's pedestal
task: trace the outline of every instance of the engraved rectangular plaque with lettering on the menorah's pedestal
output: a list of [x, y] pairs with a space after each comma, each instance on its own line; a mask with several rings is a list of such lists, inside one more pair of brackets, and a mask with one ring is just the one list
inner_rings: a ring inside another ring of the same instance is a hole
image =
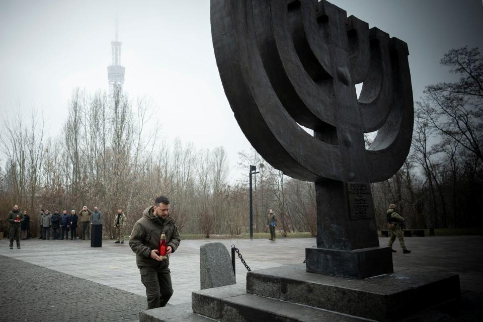
[[374, 204], [369, 183], [348, 182], [347, 196], [351, 219], [374, 218]]

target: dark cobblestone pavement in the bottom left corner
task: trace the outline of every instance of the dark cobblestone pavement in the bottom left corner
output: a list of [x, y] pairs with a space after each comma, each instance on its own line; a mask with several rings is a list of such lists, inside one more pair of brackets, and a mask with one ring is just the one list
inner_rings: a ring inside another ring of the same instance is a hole
[[0, 321], [138, 321], [143, 296], [0, 255]]

